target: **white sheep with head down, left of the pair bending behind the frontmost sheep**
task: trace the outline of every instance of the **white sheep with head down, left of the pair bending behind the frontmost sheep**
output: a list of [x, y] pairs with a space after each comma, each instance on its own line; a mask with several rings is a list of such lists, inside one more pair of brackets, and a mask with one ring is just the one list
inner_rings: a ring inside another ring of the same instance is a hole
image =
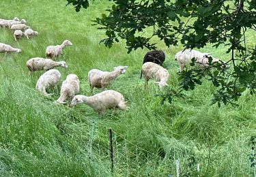
[[44, 94], [44, 96], [53, 95], [46, 93], [46, 88], [53, 86], [56, 89], [57, 84], [59, 84], [59, 80], [61, 78], [61, 73], [57, 69], [50, 69], [46, 71], [36, 83], [35, 89], [40, 91], [40, 93]]

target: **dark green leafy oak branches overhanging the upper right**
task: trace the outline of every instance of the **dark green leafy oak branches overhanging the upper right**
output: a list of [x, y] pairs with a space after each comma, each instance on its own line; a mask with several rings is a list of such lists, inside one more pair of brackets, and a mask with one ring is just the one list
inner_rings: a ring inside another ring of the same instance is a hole
[[[67, 1], [76, 12], [89, 7], [88, 0]], [[113, 0], [111, 9], [106, 11], [109, 13], [93, 22], [106, 31], [106, 38], [100, 42], [108, 47], [124, 39], [128, 52], [144, 47], [152, 50], [156, 49], [152, 37], [158, 37], [168, 47], [177, 46], [178, 42], [184, 48], [229, 46], [229, 61], [211, 63], [210, 58], [210, 67], [194, 67], [180, 73], [180, 88], [194, 89], [201, 79], [211, 80], [218, 88], [212, 103], [219, 106], [233, 103], [246, 89], [255, 93], [256, 46], [246, 47], [246, 33], [256, 30], [255, 0]], [[149, 30], [150, 35], [145, 35]]]

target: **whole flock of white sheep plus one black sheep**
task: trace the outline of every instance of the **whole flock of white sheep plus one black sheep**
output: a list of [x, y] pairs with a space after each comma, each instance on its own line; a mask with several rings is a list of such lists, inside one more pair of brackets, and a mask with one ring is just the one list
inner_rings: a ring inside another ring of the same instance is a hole
[[[29, 39], [32, 35], [37, 35], [38, 32], [33, 31], [25, 25], [25, 20], [19, 20], [14, 18], [13, 20], [3, 20], [0, 19], [1, 27], [9, 27], [14, 32], [14, 39], [20, 39], [23, 35]], [[20, 32], [21, 31], [21, 32]], [[46, 92], [46, 89], [53, 87], [57, 89], [57, 85], [60, 82], [61, 73], [54, 69], [55, 67], [67, 68], [68, 65], [65, 61], [55, 61], [60, 54], [62, 54], [63, 48], [66, 46], [72, 46], [69, 40], [64, 40], [62, 44], [56, 46], [48, 46], [46, 48], [46, 59], [41, 57], [35, 57], [29, 59], [26, 63], [29, 69], [29, 75], [33, 71], [44, 70], [44, 74], [40, 76], [38, 82], [36, 83], [35, 89], [40, 91], [46, 97], [52, 95]], [[13, 48], [8, 44], [0, 43], [0, 52], [21, 52], [18, 48]], [[175, 54], [175, 60], [180, 66], [180, 71], [184, 70], [184, 67], [191, 62], [191, 59], [195, 58], [196, 66], [205, 68], [208, 67], [208, 58], [210, 54], [201, 53], [197, 50], [182, 50]], [[147, 87], [147, 82], [153, 79], [158, 84], [158, 88], [162, 89], [167, 86], [169, 79], [169, 72], [167, 69], [162, 67], [162, 63], [165, 61], [165, 53], [162, 50], [153, 50], [147, 52], [143, 59], [143, 65], [141, 68], [141, 77], [145, 78], [145, 88]], [[212, 57], [212, 63], [219, 62], [218, 59]], [[88, 72], [88, 82], [91, 87], [91, 92], [93, 93], [94, 88], [102, 88], [103, 90], [110, 86], [117, 76], [124, 74], [126, 72], [127, 66], [115, 67], [113, 71], [101, 71], [100, 69], [91, 69]], [[87, 106], [93, 108], [98, 112], [99, 116], [104, 114], [106, 109], [119, 108], [121, 110], [126, 110], [126, 102], [124, 96], [113, 90], [102, 91], [101, 93], [95, 94], [93, 96], [77, 95], [79, 93], [79, 78], [76, 74], [69, 74], [62, 82], [61, 91], [57, 103], [70, 103], [70, 106], [75, 106], [80, 103], [85, 103]]]

